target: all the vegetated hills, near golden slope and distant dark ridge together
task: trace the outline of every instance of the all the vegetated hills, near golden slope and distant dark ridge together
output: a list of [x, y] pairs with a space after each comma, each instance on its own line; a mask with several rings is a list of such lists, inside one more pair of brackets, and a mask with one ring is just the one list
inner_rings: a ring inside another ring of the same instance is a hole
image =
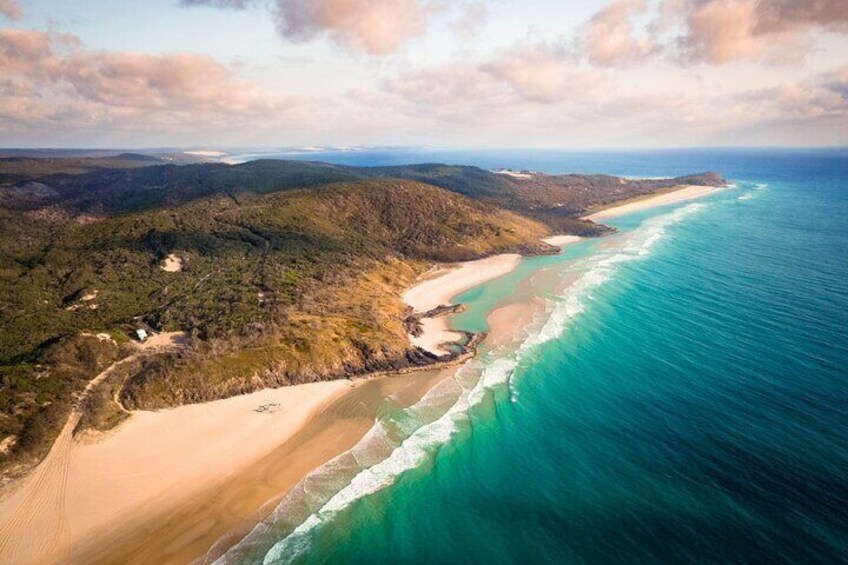
[[187, 344], [122, 365], [88, 425], [124, 417], [115, 399], [157, 408], [432, 363], [400, 293], [433, 261], [552, 252], [554, 231], [606, 231], [576, 211], [683, 182], [718, 180], [0, 159], [0, 469], [46, 453], [138, 327]]

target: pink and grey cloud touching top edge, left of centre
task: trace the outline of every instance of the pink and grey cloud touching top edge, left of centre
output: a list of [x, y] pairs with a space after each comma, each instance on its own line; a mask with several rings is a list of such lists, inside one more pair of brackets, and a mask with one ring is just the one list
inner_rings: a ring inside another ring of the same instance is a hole
[[396, 51], [423, 35], [437, 10], [426, 0], [277, 0], [280, 34], [292, 41], [326, 35], [371, 55]]

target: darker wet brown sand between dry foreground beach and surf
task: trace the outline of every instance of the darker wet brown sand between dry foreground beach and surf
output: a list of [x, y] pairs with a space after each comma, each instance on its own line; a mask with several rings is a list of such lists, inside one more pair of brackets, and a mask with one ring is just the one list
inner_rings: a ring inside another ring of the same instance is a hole
[[96, 539], [72, 548], [69, 557], [74, 562], [104, 564], [211, 562], [267, 516], [313, 469], [353, 447], [371, 428], [386, 399], [412, 405], [450, 374], [448, 369], [336, 381], [344, 390], [258, 461], [179, 503], [163, 497], [155, 515], [134, 512], [116, 520]]

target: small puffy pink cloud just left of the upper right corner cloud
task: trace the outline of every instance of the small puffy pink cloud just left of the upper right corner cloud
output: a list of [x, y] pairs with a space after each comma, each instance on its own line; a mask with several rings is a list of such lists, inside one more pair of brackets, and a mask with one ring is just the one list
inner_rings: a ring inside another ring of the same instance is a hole
[[621, 66], [643, 62], [656, 47], [648, 37], [636, 37], [633, 18], [647, 9], [645, 0], [616, 0], [584, 26], [580, 44], [589, 62]]

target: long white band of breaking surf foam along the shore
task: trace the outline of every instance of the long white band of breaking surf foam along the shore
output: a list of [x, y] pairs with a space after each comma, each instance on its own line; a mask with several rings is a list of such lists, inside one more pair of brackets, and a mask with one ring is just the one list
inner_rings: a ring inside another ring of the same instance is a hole
[[[518, 341], [517, 347], [490, 351], [472, 359], [457, 371], [453, 379], [443, 381], [418, 403], [406, 409], [404, 418], [375, 422], [353, 449], [313, 471], [301, 481], [303, 486], [298, 485], [293, 490], [296, 493], [308, 492], [310, 484], [321, 485], [321, 476], [325, 474], [338, 477], [344, 476], [345, 471], [348, 476], [354, 473], [346, 484], [335, 489], [334, 494], [328, 493], [326, 488], [314, 489], [314, 495], [308, 497], [311, 504], [307, 506], [315, 510], [288, 535], [285, 535], [284, 530], [279, 531], [277, 539], [283, 535], [285, 537], [273, 543], [269, 538], [274, 535], [274, 523], [299, 504], [287, 500], [291, 498], [287, 496], [269, 519], [256, 526], [218, 563], [241, 562], [252, 545], [262, 552], [271, 543], [273, 545], [264, 555], [265, 564], [297, 560], [309, 550], [314, 528], [332, 520], [356, 500], [391, 485], [403, 472], [421, 465], [438, 446], [444, 445], [462, 429], [468, 420], [469, 409], [483, 401], [488, 391], [508, 386], [510, 398], [513, 402], [517, 401], [517, 391], [511, 382], [513, 374], [523, 362], [532, 359], [534, 350], [561, 336], [571, 322], [586, 310], [586, 301], [595, 300], [593, 291], [610, 280], [621, 264], [649, 254], [663, 239], [670, 225], [705, 206], [701, 203], [689, 204], [669, 214], [651, 218], [632, 232], [620, 236], [621, 244], [586, 258], [577, 266], [583, 274], [563, 294], [549, 301], [545, 312], [535, 316], [529, 326], [524, 328], [524, 337]], [[434, 406], [449, 407], [444, 411], [436, 411]], [[441, 415], [435, 416], [436, 413]], [[410, 422], [414, 422], [417, 427], [407, 427]], [[405, 439], [395, 439], [398, 432], [401, 437], [406, 436]], [[351, 464], [356, 468], [351, 470], [345, 467]]]

